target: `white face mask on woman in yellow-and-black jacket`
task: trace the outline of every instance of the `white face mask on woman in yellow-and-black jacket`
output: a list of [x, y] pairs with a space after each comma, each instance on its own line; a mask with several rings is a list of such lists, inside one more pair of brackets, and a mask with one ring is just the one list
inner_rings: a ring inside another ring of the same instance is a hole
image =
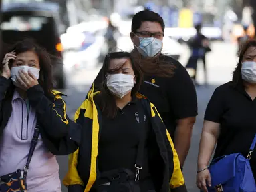
[[107, 87], [111, 93], [122, 99], [134, 87], [134, 75], [113, 74], [107, 76]]

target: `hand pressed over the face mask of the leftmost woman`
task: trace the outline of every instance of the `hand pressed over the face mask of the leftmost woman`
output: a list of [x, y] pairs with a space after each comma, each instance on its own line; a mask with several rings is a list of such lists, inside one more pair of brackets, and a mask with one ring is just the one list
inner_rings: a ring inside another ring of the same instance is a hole
[[29, 71], [29, 73], [26, 73], [23, 70], [19, 71], [17, 81], [24, 87], [25, 91], [39, 84], [37, 78], [33, 75], [33, 73], [31, 73], [31, 71]]

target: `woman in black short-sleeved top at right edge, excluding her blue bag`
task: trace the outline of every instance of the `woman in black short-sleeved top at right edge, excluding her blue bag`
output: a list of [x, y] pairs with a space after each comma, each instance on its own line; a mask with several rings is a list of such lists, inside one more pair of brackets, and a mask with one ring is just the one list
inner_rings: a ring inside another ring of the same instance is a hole
[[[239, 53], [232, 81], [217, 87], [207, 105], [197, 163], [199, 189], [207, 191], [207, 186], [213, 186], [208, 166], [216, 143], [213, 159], [232, 153], [247, 157], [256, 134], [255, 97], [256, 41], [249, 40]], [[254, 152], [250, 164], [256, 181]]]

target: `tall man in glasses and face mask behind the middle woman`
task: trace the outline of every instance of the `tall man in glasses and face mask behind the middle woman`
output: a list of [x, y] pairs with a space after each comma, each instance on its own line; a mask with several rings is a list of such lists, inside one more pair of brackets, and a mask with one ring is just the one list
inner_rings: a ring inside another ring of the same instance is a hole
[[[132, 55], [144, 75], [139, 93], [156, 105], [183, 167], [197, 116], [197, 94], [186, 69], [161, 53], [164, 27], [164, 21], [157, 13], [148, 9], [136, 13], [130, 33], [134, 43]], [[96, 90], [105, 78], [100, 70], [94, 80]]]

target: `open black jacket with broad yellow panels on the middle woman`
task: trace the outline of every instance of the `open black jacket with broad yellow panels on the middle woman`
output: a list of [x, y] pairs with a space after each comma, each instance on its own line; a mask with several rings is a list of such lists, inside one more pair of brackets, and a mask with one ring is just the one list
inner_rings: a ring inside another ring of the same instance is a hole
[[[70, 156], [69, 170], [63, 181], [70, 192], [88, 192], [92, 189], [96, 179], [99, 178], [98, 170], [98, 143], [102, 129], [101, 110], [94, 103], [94, 86], [88, 93], [88, 99], [76, 111], [76, 122], [82, 125], [82, 140], [79, 149]], [[140, 102], [144, 98], [137, 95]], [[156, 107], [147, 101], [147, 108], [151, 115], [150, 122], [153, 132], [150, 147], [150, 161], [152, 162], [152, 179], [157, 192], [173, 191], [185, 192], [184, 177], [180, 170], [180, 162], [170, 134]], [[154, 155], [152, 155], [154, 154]]]

